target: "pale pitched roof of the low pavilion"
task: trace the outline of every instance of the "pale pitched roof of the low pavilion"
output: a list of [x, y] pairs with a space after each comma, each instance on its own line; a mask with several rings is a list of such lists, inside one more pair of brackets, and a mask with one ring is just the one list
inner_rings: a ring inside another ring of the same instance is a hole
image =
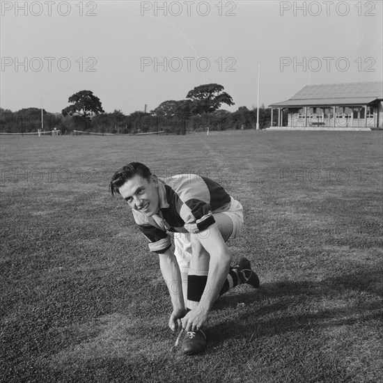
[[306, 85], [289, 100], [269, 106], [366, 105], [375, 100], [383, 100], [382, 81]]

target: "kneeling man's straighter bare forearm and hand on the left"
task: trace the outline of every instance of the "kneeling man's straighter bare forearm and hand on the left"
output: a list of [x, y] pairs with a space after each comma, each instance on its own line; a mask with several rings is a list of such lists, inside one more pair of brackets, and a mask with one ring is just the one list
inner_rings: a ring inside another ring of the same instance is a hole
[[180, 267], [178, 267], [177, 259], [171, 249], [159, 254], [159, 267], [166, 286], [168, 286], [173, 312], [169, 318], [169, 327], [175, 330], [180, 325], [180, 318], [185, 313], [185, 302], [182, 293], [182, 278]]

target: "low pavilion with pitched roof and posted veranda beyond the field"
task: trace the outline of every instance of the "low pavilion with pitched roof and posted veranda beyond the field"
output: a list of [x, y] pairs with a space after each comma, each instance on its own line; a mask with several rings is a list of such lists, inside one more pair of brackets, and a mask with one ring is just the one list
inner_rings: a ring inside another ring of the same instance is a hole
[[383, 82], [307, 85], [269, 107], [271, 130], [383, 129]]

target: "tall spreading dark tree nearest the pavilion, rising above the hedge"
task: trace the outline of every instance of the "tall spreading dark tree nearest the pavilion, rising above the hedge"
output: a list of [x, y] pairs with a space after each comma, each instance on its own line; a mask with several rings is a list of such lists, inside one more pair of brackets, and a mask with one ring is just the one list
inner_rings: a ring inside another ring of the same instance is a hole
[[212, 113], [217, 111], [221, 104], [234, 105], [233, 98], [224, 92], [224, 87], [219, 84], [196, 86], [186, 97], [193, 102], [193, 114]]

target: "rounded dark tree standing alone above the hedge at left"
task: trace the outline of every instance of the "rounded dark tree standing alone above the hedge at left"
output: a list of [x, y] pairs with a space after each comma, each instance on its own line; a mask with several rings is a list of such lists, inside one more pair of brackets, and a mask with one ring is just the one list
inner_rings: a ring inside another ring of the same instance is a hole
[[72, 102], [72, 105], [61, 111], [63, 116], [77, 116], [86, 126], [92, 116], [104, 113], [100, 98], [93, 95], [92, 91], [79, 91], [71, 95], [68, 102]]

